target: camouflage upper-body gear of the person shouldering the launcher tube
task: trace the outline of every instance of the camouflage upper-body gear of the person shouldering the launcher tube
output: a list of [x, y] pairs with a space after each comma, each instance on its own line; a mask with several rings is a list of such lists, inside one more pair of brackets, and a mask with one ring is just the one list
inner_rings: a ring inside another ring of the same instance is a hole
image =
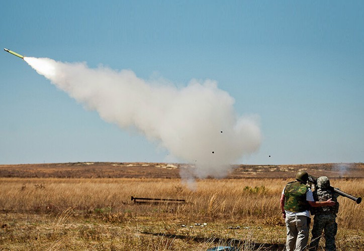
[[326, 201], [331, 198], [332, 201], [335, 201], [334, 206], [322, 206], [322, 207], [311, 207], [311, 214], [336, 214], [339, 212], [339, 202], [337, 202], [338, 194], [330, 189], [321, 189], [317, 188], [313, 192], [313, 198], [315, 201]]

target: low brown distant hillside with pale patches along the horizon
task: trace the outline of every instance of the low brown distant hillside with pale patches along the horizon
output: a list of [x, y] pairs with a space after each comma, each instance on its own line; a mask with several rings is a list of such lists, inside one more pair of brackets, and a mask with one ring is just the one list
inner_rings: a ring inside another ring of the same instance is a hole
[[[294, 178], [299, 170], [329, 178], [363, 178], [364, 163], [307, 165], [234, 165], [227, 175], [239, 178]], [[0, 177], [19, 178], [179, 178], [180, 171], [193, 173], [188, 164], [77, 162], [0, 165]]]

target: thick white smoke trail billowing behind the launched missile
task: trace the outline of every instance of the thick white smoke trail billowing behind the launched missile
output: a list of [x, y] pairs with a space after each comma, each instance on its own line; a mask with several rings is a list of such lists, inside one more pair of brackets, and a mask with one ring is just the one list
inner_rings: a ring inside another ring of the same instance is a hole
[[133, 126], [172, 156], [196, 165], [196, 175], [222, 177], [256, 151], [261, 136], [256, 117], [238, 117], [234, 99], [212, 80], [186, 87], [138, 78], [131, 70], [90, 69], [85, 63], [49, 58], [24, 60], [59, 89], [97, 110], [121, 128]]

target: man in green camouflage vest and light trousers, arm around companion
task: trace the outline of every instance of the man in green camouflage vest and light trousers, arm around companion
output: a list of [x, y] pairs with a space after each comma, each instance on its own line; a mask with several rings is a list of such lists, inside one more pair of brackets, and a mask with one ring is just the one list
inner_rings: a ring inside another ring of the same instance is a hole
[[289, 182], [283, 189], [280, 205], [282, 217], [286, 220], [286, 250], [303, 250], [308, 242], [310, 212], [309, 207], [333, 206], [335, 202], [315, 202], [312, 191], [306, 185], [308, 173], [300, 171], [296, 180]]

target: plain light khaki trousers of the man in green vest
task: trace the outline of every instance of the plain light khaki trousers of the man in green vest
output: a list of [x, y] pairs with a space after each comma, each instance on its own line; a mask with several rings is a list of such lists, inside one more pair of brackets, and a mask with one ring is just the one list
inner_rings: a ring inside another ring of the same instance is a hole
[[310, 229], [310, 218], [307, 216], [286, 217], [287, 251], [301, 251], [306, 248]]

